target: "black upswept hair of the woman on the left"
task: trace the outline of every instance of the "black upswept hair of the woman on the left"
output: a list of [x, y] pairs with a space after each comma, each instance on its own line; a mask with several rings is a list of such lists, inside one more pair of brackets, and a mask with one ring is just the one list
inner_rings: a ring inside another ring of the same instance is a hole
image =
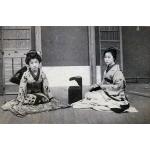
[[27, 65], [29, 65], [29, 62], [31, 59], [37, 59], [39, 61], [39, 63], [41, 63], [42, 58], [41, 56], [37, 53], [37, 51], [35, 50], [30, 50], [27, 54], [26, 54], [26, 59], [25, 59], [25, 63]]

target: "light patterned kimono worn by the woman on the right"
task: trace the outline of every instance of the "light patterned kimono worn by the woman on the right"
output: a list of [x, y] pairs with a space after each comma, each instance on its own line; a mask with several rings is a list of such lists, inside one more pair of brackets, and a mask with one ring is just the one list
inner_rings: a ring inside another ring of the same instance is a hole
[[101, 90], [87, 92], [85, 98], [74, 104], [73, 108], [92, 108], [95, 110], [122, 109], [129, 106], [125, 95], [126, 82], [119, 65], [114, 65], [104, 72]]

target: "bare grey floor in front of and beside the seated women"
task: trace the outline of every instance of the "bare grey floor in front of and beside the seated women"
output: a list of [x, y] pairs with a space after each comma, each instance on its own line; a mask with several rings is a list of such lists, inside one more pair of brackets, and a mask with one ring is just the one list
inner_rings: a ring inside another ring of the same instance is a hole
[[[15, 95], [1, 96], [0, 106]], [[59, 109], [55, 111], [30, 114], [23, 118], [16, 117], [9, 111], [0, 109], [1, 124], [146, 124], [150, 123], [150, 99], [129, 95], [131, 105], [138, 113], [99, 112], [91, 109]]]

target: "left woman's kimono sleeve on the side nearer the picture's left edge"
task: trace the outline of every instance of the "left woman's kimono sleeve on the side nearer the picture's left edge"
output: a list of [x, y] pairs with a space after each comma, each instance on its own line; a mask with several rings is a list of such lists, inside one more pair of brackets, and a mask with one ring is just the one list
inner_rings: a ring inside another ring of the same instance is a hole
[[20, 85], [19, 85], [19, 92], [17, 96], [18, 101], [24, 102], [26, 96], [26, 88], [27, 88], [27, 74], [25, 72], [21, 78]]

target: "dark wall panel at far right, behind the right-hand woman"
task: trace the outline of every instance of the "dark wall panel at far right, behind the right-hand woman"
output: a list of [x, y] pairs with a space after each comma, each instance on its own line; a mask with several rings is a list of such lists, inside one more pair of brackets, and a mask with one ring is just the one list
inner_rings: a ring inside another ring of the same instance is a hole
[[[123, 62], [126, 78], [150, 78], [150, 27], [122, 28]], [[141, 79], [140, 79], [141, 78]]]

